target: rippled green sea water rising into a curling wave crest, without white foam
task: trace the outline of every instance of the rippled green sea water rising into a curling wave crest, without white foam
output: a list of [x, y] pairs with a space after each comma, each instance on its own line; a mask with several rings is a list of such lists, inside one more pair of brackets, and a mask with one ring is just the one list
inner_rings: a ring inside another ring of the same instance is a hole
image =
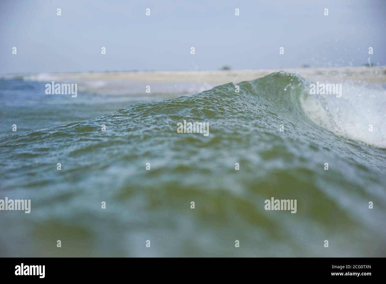
[[[349, 116], [334, 133], [335, 114], [322, 119], [315, 107], [333, 102], [310, 97], [301, 77], [273, 73], [237, 84], [240, 93], [228, 83], [95, 116], [125, 101], [95, 109], [42, 100], [38, 111], [18, 104], [11, 113], [7, 95], [41, 83], [3, 84], [3, 118], [28, 124], [26, 112], [37, 122], [25, 128], [41, 129], [0, 138], [0, 199], [31, 199], [30, 214], [0, 211], [1, 256], [386, 255], [382, 129], [368, 138]], [[177, 133], [184, 119], [208, 122], [210, 134]], [[271, 197], [296, 199], [296, 214], [264, 210]]]

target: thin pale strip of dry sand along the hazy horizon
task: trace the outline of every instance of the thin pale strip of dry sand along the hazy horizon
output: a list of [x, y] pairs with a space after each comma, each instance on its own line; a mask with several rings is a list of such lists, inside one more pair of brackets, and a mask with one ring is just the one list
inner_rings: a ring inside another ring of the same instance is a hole
[[309, 80], [330, 80], [335, 77], [353, 80], [365, 80], [366, 82], [386, 82], [386, 66], [357, 66], [357, 67], [301, 67], [301, 68], [278, 68], [278, 69], [256, 69], [256, 70], [213, 70], [213, 71], [122, 71], [122, 72], [69, 72], [69, 73], [29, 73], [19, 75], [3, 75], [2, 78], [27, 77], [29, 80], [37, 81], [78, 79], [86, 81], [95, 80], [123, 80], [135, 82], [207, 82], [207, 83], [229, 83], [250, 81], [264, 77], [276, 71], [298, 73], [301, 77]]

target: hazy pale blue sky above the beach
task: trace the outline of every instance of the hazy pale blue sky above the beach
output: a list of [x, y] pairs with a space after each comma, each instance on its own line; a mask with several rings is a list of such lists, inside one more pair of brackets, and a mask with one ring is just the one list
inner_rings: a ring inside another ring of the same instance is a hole
[[385, 65], [385, 13], [385, 0], [1, 0], [0, 73]]

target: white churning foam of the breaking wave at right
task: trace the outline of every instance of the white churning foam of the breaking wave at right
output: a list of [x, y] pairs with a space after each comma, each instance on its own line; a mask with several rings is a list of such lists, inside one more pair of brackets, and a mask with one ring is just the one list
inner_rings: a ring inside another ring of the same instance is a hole
[[342, 84], [342, 90], [340, 98], [302, 97], [303, 110], [315, 124], [339, 136], [386, 148], [386, 90], [381, 85], [349, 82]]

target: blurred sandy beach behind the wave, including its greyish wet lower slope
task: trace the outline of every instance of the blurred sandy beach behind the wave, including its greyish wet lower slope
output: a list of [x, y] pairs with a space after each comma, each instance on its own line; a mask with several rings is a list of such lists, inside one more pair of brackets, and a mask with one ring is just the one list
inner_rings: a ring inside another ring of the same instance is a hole
[[[80, 90], [103, 95], [145, 94], [151, 86], [153, 94], [194, 94], [209, 90], [224, 83], [238, 83], [264, 77], [281, 69], [214, 70], [214, 71], [130, 71], [88, 73], [38, 73], [8, 75], [3, 78], [22, 77], [37, 82], [56, 81], [78, 83]], [[296, 73], [313, 82], [386, 83], [386, 66], [289, 68], [287, 73]], [[149, 94], [147, 94], [149, 95]]]

